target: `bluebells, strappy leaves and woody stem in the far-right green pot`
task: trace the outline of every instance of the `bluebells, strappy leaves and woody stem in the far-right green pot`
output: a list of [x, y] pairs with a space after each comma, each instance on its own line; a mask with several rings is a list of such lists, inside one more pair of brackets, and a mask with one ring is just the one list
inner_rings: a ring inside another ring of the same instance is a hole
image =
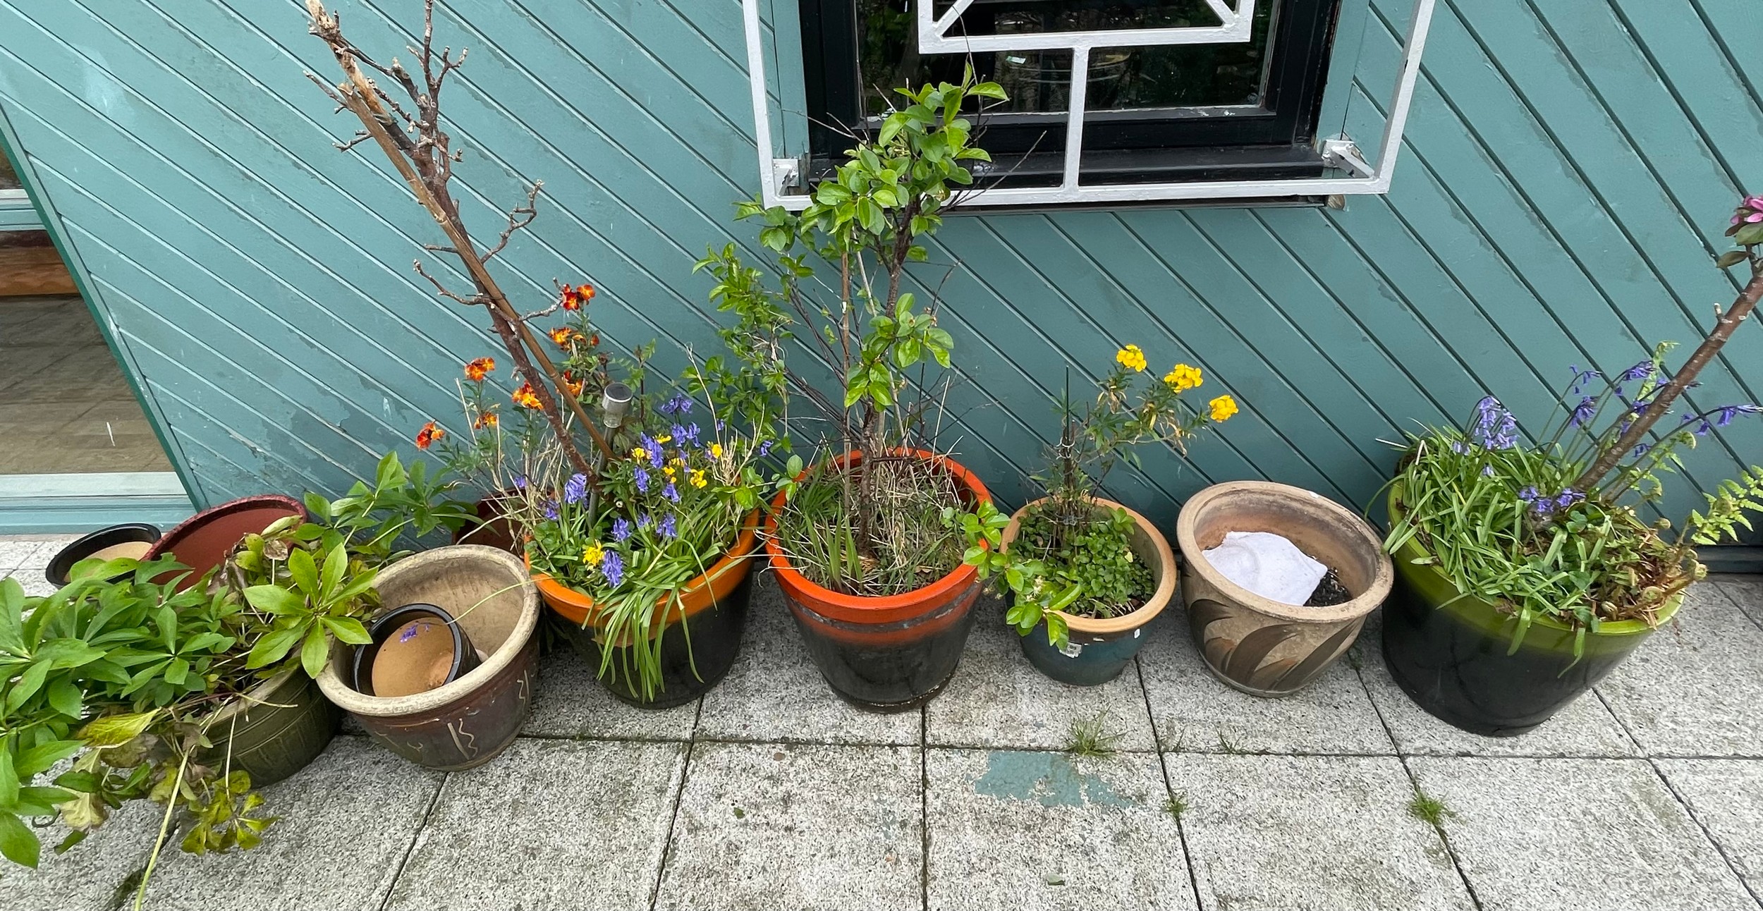
[[1657, 622], [1671, 597], [1707, 574], [1696, 544], [1717, 544], [1749, 529], [1763, 509], [1763, 467], [1721, 481], [1707, 507], [1675, 529], [1647, 523], [1638, 506], [1661, 497], [1661, 476], [1682, 465], [1678, 449], [1735, 419], [1763, 412], [1754, 404], [1692, 411], [1677, 421], [1678, 396], [1714, 359], [1763, 298], [1763, 197], [1745, 197], [1728, 231], [1737, 250], [1721, 268], [1749, 266], [1738, 300], [1677, 372], [1675, 347], [1661, 344], [1620, 374], [1573, 368], [1557, 416], [1529, 439], [1493, 396], [1463, 426], [1426, 428], [1402, 456], [1395, 485], [1400, 513], [1386, 548], [1414, 541], [1463, 597], [1481, 597], [1518, 617], [1513, 648], [1537, 618], [1567, 624], [1576, 654], [1587, 633], [1611, 620]]

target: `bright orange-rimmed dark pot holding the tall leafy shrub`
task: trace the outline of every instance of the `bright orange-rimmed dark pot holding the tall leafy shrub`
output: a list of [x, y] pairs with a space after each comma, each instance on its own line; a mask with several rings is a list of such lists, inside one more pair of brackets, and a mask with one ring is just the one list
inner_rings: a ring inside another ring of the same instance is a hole
[[[924, 449], [911, 455], [947, 470], [968, 504], [991, 499], [986, 485], [957, 462]], [[862, 453], [841, 456], [837, 463], [859, 465]], [[779, 493], [772, 509], [783, 506]], [[839, 594], [790, 566], [777, 544], [774, 515], [765, 516], [765, 553], [815, 666], [844, 701], [874, 712], [904, 712], [929, 701], [956, 675], [980, 596], [980, 578], [971, 566], [957, 566], [915, 592]]]

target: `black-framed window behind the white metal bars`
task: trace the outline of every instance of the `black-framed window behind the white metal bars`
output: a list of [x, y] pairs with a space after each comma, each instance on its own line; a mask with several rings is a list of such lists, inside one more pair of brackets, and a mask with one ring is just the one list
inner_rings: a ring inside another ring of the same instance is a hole
[[1001, 187], [1067, 181], [1074, 63], [1086, 76], [1075, 181], [1317, 178], [1329, 166], [1315, 134], [1338, 9], [1340, 0], [800, 0], [809, 173], [848, 148], [843, 130], [880, 122], [883, 92], [957, 81], [971, 58], [1010, 93], [982, 118], [989, 176]]

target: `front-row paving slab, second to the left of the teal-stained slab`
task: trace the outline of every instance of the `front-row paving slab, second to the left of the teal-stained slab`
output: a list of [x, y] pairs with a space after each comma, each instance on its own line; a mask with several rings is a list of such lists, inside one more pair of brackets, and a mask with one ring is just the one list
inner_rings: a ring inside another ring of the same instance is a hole
[[386, 909], [647, 909], [682, 744], [517, 740], [448, 775]]

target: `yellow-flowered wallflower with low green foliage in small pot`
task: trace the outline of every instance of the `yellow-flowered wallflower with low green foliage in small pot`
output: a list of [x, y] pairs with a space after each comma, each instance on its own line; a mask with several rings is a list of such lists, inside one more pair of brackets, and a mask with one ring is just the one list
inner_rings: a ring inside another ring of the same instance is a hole
[[1024, 636], [1045, 622], [1047, 641], [1065, 647], [1061, 611], [1120, 617], [1144, 606], [1155, 585], [1151, 567], [1132, 552], [1137, 523], [1123, 509], [1098, 506], [1095, 492], [1116, 465], [1139, 463], [1139, 446], [1185, 455], [1195, 433], [1238, 411], [1229, 395], [1208, 402], [1204, 412], [1181, 400], [1204, 382], [1197, 367], [1178, 363], [1162, 379], [1146, 367], [1144, 351], [1127, 345], [1081, 414], [1068, 391], [1060, 400], [1060, 442], [1035, 476], [1047, 497], [1026, 511], [1008, 550], [1000, 546], [1007, 520], [996, 511], [959, 520], [970, 537], [966, 562], [980, 578], [996, 578], [1010, 597], [1005, 622]]

